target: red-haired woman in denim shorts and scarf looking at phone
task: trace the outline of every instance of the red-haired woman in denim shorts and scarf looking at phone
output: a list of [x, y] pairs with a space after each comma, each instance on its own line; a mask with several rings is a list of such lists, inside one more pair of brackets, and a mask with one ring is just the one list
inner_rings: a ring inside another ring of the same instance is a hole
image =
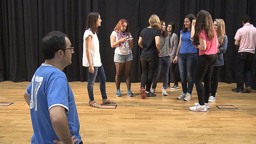
[[[124, 68], [127, 95], [133, 97], [131, 91], [131, 68], [132, 68], [132, 35], [129, 31], [128, 21], [125, 19], [119, 20], [110, 35], [110, 44], [112, 48], [116, 48], [114, 55], [114, 62], [116, 65], [116, 96], [121, 97], [120, 90], [121, 75]], [[129, 39], [128, 39], [129, 38]]]

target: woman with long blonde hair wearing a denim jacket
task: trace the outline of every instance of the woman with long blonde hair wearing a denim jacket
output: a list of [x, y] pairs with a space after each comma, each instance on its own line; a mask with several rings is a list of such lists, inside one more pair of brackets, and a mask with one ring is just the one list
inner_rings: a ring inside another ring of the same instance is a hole
[[226, 52], [228, 46], [228, 36], [226, 35], [225, 22], [222, 19], [215, 19], [213, 22], [213, 27], [217, 32], [217, 38], [219, 41], [218, 52], [217, 52], [217, 62], [215, 63], [212, 70], [212, 79], [211, 79], [211, 93], [209, 97], [209, 102], [215, 101], [215, 95], [217, 93], [220, 69], [224, 65], [223, 53]]

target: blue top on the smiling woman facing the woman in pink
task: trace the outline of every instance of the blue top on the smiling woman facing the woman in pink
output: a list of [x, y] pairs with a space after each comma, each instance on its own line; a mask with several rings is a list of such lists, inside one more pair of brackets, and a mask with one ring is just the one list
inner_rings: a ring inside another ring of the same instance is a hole
[[196, 47], [192, 44], [192, 40], [190, 38], [191, 31], [182, 32], [181, 34], [181, 47], [179, 53], [197, 53]]

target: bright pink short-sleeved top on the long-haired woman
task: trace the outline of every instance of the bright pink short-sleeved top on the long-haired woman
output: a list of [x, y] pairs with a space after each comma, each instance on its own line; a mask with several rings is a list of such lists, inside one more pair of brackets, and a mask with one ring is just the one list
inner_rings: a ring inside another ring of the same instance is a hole
[[199, 37], [203, 38], [206, 41], [206, 49], [204, 51], [199, 50], [199, 55], [209, 55], [209, 54], [216, 54], [218, 52], [218, 39], [216, 35], [216, 31], [214, 30], [214, 37], [211, 40], [207, 37], [205, 31], [202, 29], [199, 33]]

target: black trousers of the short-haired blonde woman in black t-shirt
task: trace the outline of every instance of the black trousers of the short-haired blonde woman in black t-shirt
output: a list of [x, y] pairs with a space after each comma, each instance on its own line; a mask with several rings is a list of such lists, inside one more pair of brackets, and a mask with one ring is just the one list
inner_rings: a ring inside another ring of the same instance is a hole
[[150, 92], [150, 88], [155, 75], [157, 63], [158, 63], [158, 57], [154, 57], [154, 58], [140, 57], [140, 64], [142, 68], [142, 74], [140, 77], [140, 87], [144, 87], [144, 88], [146, 87], [147, 92]]

